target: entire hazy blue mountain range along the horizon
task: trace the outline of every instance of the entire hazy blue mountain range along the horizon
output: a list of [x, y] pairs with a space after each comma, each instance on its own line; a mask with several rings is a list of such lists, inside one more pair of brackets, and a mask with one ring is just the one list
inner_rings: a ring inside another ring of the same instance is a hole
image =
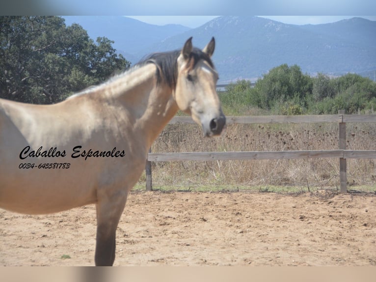
[[213, 61], [221, 82], [253, 79], [271, 68], [297, 64], [304, 73], [376, 73], [376, 21], [352, 18], [322, 25], [289, 25], [256, 16], [221, 16], [198, 28], [156, 26], [121, 16], [64, 16], [92, 39], [106, 36], [135, 64], [143, 56], [180, 49], [193, 36], [203, 48], [215, 37]]

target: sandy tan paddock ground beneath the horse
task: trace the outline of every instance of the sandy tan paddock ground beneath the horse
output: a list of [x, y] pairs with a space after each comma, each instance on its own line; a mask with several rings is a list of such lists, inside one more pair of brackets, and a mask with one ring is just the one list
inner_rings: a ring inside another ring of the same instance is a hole
[[[93, 265], [95, 231], [94, 205], [0, 210], [0, 265]], [[376, 265], [376, 197], [132, 193], [116, 240], [122, 266]]]

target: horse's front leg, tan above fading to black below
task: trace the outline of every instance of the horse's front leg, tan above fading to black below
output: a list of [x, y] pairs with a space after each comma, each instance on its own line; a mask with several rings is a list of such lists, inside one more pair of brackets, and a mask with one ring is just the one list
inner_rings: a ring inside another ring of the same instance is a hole
[[97, 203], [96, 266], [112, 266], [115, 260], [116, 228], [125, 202], [126, 197], [117, 197]]

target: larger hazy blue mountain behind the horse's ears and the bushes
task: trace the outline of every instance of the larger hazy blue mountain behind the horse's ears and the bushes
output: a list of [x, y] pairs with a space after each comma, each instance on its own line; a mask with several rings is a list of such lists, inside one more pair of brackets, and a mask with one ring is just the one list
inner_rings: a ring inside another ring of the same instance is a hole
[[221, 80], [260, 77], [283, 63], [303, 72], [344, 74], [376, 70], [376, 22], [295, 26], [259, 17], [218, 17], [173, 36], [156, 50], [178, 48], [188, 36], [204, 46], [215, 36], [215, 64]]

